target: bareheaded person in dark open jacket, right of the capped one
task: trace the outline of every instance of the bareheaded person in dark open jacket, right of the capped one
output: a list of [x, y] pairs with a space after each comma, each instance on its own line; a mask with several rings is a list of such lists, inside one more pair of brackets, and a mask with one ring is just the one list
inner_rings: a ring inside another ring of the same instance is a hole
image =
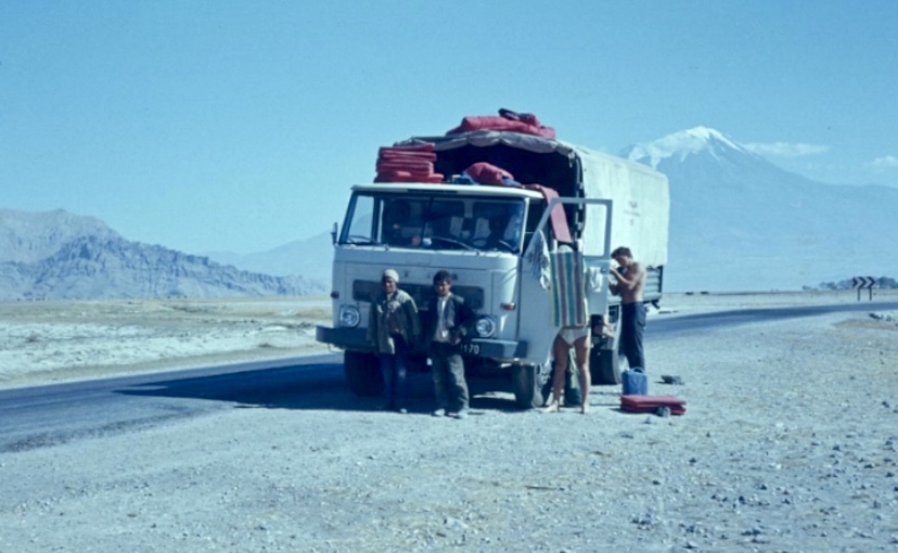
[[464, 380], [464, 362], [461, 357], [461, 340], [467, 333], [467, 325], [474, 319], [464, 298], [452, 294], [452, 276], [448, 271], [434, 275], [436, 296], [427, 309], [428, 329], [425, 338], [427, 356], [434, 372], [434, 390], [437, 409], [434, 416], [449, 415], [456, 419], [467, 416], [467, 383]]

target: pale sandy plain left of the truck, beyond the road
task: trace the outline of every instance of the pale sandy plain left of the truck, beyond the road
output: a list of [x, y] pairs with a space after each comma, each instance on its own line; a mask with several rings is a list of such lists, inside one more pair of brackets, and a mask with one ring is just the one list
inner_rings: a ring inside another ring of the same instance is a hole
[[328, 297], [0, 304], [0, 388], [322, 349]]

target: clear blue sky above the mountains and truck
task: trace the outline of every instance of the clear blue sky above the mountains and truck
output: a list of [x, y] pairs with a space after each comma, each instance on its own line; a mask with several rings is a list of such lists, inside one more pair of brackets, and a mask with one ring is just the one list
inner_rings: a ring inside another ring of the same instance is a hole
[[713, 127], [898, 187], [898, 2], [0, 3], [0, 207], [188, 253], [330, 229], [376, 149], [533, 112], [613, 153]]

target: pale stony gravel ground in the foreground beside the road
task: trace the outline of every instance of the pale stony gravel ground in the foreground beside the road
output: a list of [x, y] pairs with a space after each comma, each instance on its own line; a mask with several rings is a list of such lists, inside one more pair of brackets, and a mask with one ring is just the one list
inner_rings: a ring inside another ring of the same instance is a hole
[[[654, 317], [819, 301], [680, 299]], [[419, 382], [408, 415], [325, 390], [3, 453], [0, 552], [898, 551], [898, 313], [876, 314], [647, 340], [683, 416], [596, 386], [587, 416], [493, 393], [436, 419]]]

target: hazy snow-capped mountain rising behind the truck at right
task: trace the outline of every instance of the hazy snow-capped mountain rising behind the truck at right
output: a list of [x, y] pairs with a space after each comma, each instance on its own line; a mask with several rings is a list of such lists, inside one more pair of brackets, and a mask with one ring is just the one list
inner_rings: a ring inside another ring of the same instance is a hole
[[816, 182], [705, 127], [621, 155], [670, 180], [669, 291], [797, 290], [898, 273], [898, 189]]

